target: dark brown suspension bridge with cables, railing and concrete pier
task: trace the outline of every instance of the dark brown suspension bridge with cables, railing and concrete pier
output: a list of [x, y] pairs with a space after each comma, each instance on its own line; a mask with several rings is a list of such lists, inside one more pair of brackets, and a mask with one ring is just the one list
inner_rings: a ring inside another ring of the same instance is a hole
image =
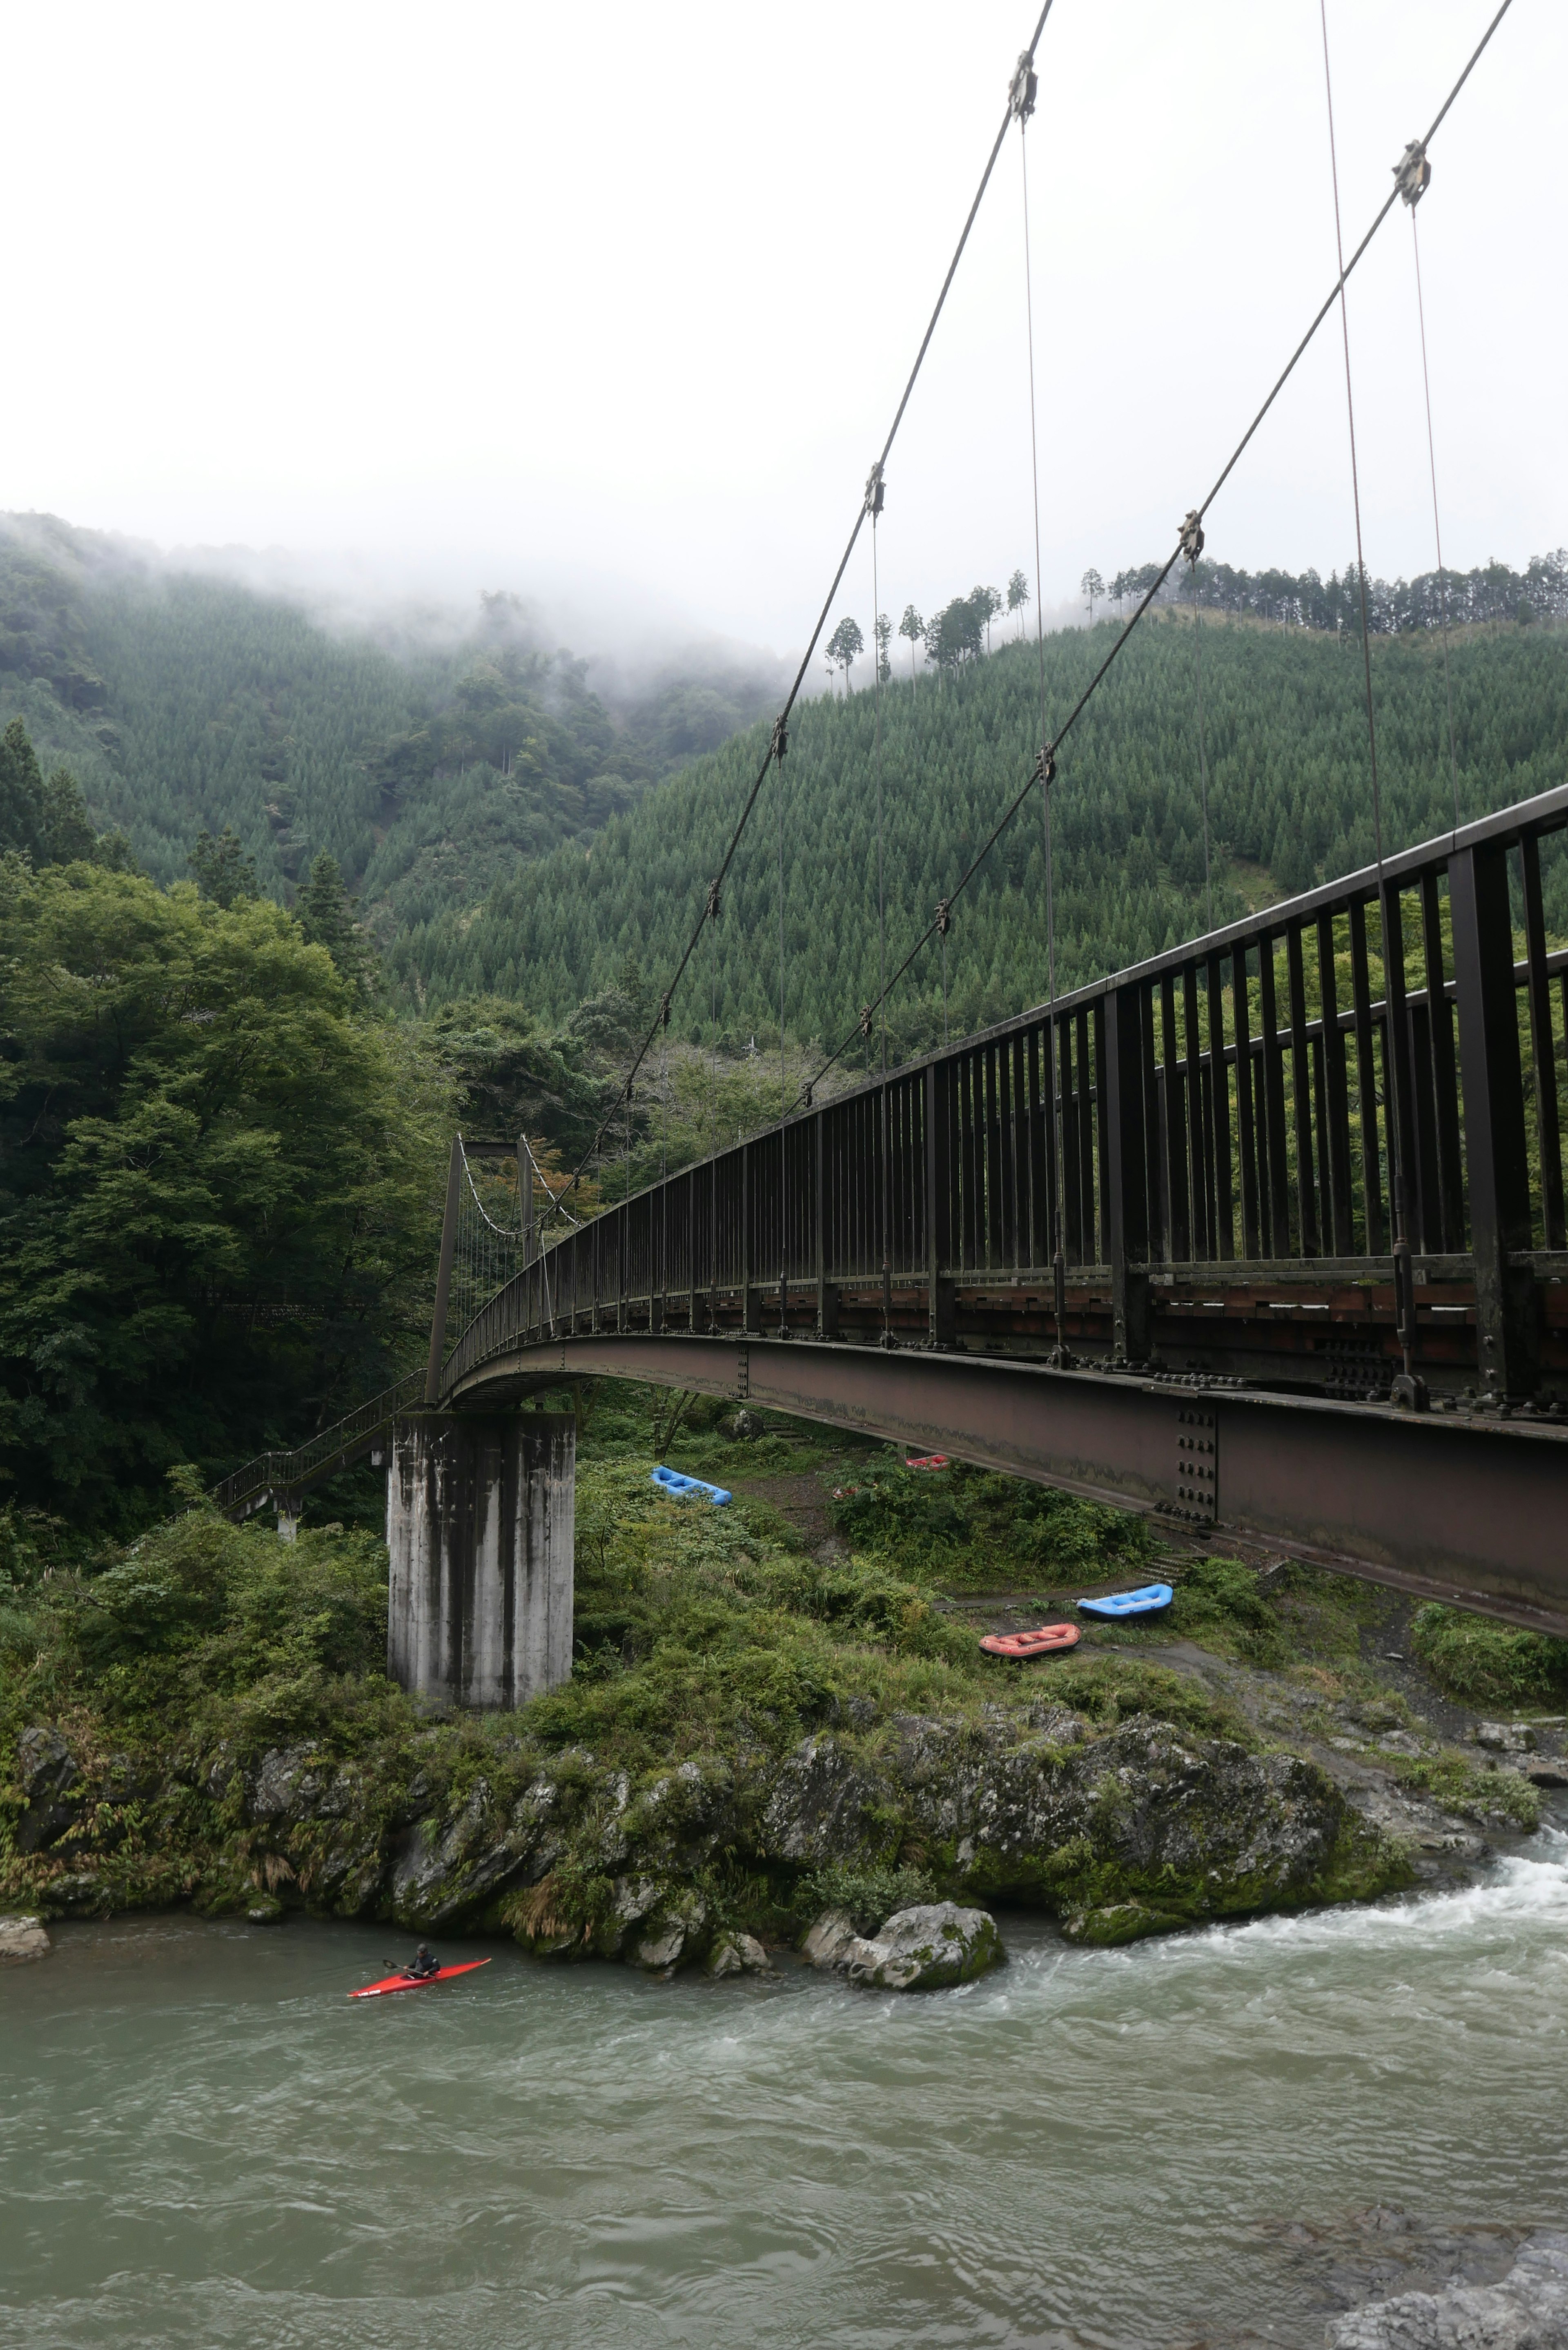
[[[1041, 12], [795, 691], [592, 1149], [559, 1184], [527, 1137], [454, 1140], [425, 1370], [219, 1488], [235, 1516], [289, 1525], [317, 1478], [388, 1462], [393, 1666], [409, 1685], [510, 1704], [569, 1671], [571, 1419], [520, 1405], [578, 1377], [945, 1450], [1192, 1539], [1568, 1633], [1568, 952], [1542, 909], [1568, 785], [1479, 822], [1455, 801], [1448, 832], [1385, 853], [1368, 658], [1373, 865], [1063, 994], [1051, 928], [1065, 740], [1178, 559], [1197, 564], [1208, 505], [1316, 327], [1335, 306], [1345, 324], [1382, 219], [1401, 197], [1415, 216], [1427, 146], [1505, 12], [1056, 728], [1041, 684], [1032, 773], [893, 971], [882, 938], [879, 996], [846, 1036], [879, 1036], [877, 1074], [827, 1093], [839, 1046], [776, 1126], [574, 1215], [722, 919], [865, 524], [875, 548], [886, 456], [969, 226], [1009, 129], [1027, 129]], [[1349, 395], [1347, 327], [1345, 364]], [[889, 1065], [889, 996], [1030, 799], [1046, 813], [1048, 1001]]]

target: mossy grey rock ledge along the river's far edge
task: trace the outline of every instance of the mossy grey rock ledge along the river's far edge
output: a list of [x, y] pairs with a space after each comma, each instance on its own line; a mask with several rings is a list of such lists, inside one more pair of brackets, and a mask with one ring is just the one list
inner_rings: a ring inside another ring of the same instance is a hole
[[[835, 1713], [783, 1755], [743, 1739], [639, 1784], [581, 1748], [541, 1755], [433, 1725], [350, 1760], [310, 1744], [181, 1751], [146, 1786], [125, 1758], [87, 1772], [35, 1725], [16, 1755], [24, 1875], [9, 1899], [47, 1913], [195, 1899], [256, 1922], [306, 1906], [421, 1934], [510, 1932], [541, 1958], [729, 1974], [755, 1965], [741, 1922], [832, 1896], [835, 1873], [853, 1920], [818, 1918], [818, 1965], [837, 1965], [832, 1936], [856, 1939], [872, 1899], [893, 1906], [882, 1887], [898, 1873], [954, 1915], [1013, 1901], [1084, 1943], [1406, 1878], [1396, 1845], [1291, 1753], [1150, 1716], [1098, 1730], [1051, 1701], [889, 1720], [851, 1699]], [[122, 1849], [125, 1821], [136, 1838]], [[726, 1908], [724, 1882], [755, 1889], [755, 1915]], [[867, 1936], [849, 1979], [924, 1981], [926, 1965], [931, 1981], [966, 1979], [987, 1962], [966, 1941], [943, 1974], [952, 1936], [936, 1929], [943, 1948], [917, 1965], [926, 1927], [910, 1932], [898, 1950], [870, 1950], [886, 1927]]]

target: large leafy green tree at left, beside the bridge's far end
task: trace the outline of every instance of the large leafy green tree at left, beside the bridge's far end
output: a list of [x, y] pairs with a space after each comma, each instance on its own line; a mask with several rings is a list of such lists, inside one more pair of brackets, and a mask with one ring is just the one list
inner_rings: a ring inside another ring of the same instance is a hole
[[418, 1351], [449, 1095], [282, 907], [0, 860], [0, 1034], [21, 1502], [134, 1525]]

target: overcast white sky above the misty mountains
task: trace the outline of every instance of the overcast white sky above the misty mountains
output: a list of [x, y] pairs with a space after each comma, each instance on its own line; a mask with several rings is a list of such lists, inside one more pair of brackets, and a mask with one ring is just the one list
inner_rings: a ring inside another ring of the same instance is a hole
[[[1493, 0], [1331, 0], [1347, 247]], [[0, 508], [797, 646], [1034, 0], [148, 0], [7, 19]], [[1030, 129], [1046, 602], [1164, 555], [1333, 282], [1316, 0], [1056, 0]], [[1568, 538], [1568, 9], [1420, 209], [1446, 555]], [[1429, 569], [1410, 223], [1352, 282], [1366, 557]], [[1352, 548], [1328, 327], [1208, 524]], [[889, 463], [882, 604], [1032, 569], [1018, 141]], [[860, 576], [865, 573], [865, 576]], [[870, 620], [870, 552], [839, 599]]]

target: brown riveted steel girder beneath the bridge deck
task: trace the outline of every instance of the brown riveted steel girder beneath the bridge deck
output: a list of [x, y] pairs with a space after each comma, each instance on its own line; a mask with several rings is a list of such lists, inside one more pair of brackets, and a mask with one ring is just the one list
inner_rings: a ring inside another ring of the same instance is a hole
[[973, 1354], [637, 1332], [498, 1349], [442, 1401], [480, 1405], [588, 1375], [954, 1452], [1568, 1636], [1566, 1429]]

